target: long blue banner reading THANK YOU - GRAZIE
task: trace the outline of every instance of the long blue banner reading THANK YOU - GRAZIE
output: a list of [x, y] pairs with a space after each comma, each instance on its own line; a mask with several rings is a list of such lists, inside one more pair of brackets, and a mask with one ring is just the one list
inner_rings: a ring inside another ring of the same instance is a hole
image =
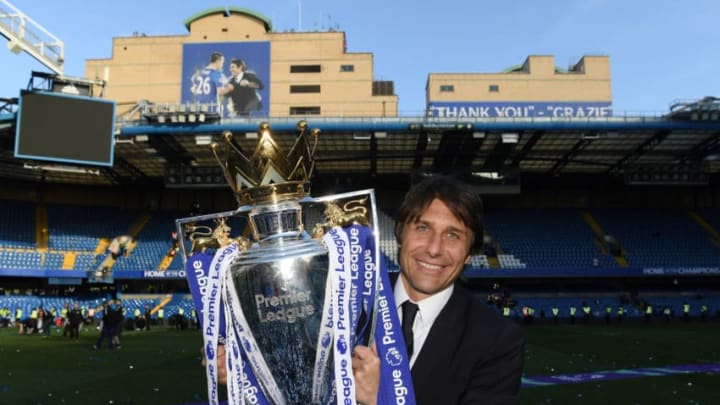
[[612, 116], [612, 103], [596, 101], [435, 101], [428, 103], [433, 118], [602, 118]]

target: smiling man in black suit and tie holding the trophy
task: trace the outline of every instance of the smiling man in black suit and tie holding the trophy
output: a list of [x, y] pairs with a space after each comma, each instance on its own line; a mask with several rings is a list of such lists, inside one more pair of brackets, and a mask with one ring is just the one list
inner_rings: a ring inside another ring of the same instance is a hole
[[[398, 211], [400, 276], [394, 296], [418, 305], [410, 367], [424, 404], [517, 404], [523, 364], [519, 326], [500, 319], [457, 283], [481, 251], [482, 201], [462, 184], [436, 177], [414, 186]], [[375, 404], [380, 361], [355, 348], [357, 399]]]

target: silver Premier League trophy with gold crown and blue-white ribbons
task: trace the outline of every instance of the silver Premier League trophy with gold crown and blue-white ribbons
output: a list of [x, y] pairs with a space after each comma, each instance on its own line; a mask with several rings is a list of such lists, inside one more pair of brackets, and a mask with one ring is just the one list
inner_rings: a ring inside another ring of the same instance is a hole
[[380, 356], [378, 403], [413, 404], [374, 192], [309, 195], [319, 130], [305, 121], [287, 154], [267, 123], [250, 157], [223, 137], [213, 153], [239, 208], [177, 220], [209, 403], [219, 403], [224, 345], [230, 404], [355, 404], [352, 351], [362, 344]]

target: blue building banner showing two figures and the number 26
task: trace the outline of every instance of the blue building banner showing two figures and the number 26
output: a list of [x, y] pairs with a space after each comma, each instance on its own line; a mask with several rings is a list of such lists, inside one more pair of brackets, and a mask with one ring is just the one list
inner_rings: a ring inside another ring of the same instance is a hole
[[183, 44], [181, 102], [223, 118], [267, 117], [270, 42]]

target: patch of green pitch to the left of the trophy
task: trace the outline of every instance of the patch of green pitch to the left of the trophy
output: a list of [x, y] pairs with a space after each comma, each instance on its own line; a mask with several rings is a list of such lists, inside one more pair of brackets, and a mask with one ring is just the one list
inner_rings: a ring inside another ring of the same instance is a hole
[[0, 329], [0, 404], [184, 404], [205, 398], [197, 330], [123, 331], [121, 348]]

